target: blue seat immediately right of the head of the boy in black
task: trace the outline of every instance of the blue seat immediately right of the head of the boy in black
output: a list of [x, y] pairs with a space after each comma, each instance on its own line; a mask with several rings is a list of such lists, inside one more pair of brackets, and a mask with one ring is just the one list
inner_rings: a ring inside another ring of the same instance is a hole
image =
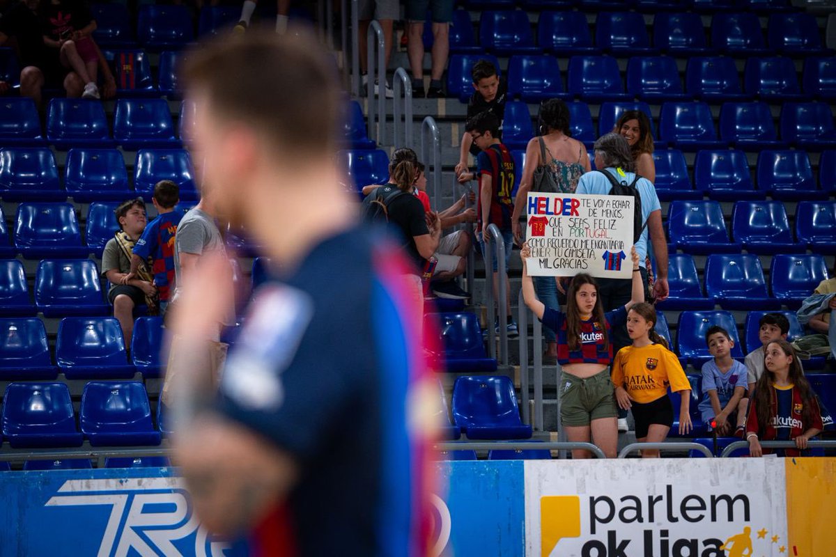
[[512, 56], [508, 62], [508, 94], [526, 103], [566, 99], [558, 59], [547, 54]]

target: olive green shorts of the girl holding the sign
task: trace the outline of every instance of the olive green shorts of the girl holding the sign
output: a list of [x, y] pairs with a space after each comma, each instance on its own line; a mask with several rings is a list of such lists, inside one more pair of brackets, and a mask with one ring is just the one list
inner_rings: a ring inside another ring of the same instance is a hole
[[588, 426], [592, 420], [617, 416], [609, 367], [586, 379], [561, 374], [560, 422], [564, 426]]

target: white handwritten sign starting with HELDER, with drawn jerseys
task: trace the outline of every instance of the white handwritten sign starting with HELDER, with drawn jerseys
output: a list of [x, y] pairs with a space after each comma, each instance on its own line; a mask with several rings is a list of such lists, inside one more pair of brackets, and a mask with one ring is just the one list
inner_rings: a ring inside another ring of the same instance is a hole
[[630, 278], [633, 202], [623, 195], [529, 193], [528, 274]]

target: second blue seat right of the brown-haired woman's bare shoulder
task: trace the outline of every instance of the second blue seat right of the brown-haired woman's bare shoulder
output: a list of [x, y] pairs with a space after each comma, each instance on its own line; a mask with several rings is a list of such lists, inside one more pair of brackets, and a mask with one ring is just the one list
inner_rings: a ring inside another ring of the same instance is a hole
[[712, 200], [762, 200], [763, 191], [755, 190], [746, 153], [738, 150], [703, 149], [696, 154], [694, 183]]

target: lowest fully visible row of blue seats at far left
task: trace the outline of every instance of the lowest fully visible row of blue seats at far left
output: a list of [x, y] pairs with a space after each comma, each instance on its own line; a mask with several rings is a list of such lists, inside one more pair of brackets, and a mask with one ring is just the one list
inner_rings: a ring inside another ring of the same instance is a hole
[[94, 447], [159, 445], [161, 433], [170, 433], [161, 406], [155, 425], [141, 382], [89, 382], [77, 425], [66, 384], [11, 383], [3, 395], [3, 438], [13, 448], [79, 447], [84, 439]]

